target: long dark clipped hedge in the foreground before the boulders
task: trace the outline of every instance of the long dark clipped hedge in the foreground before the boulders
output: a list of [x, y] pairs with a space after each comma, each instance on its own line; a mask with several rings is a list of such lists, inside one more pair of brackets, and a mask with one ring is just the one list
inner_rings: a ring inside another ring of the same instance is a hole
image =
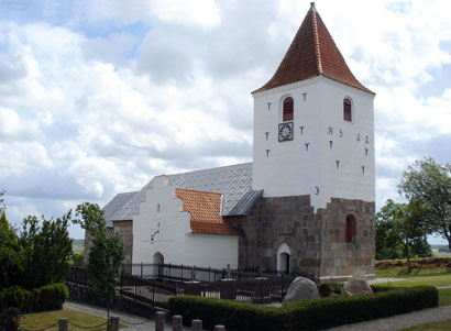
[[284, 305], [283, 308], [231, 300], [178, 296], [169, 299], [172, 315], [182, 315], [185, 326], [201, 319], [207, 329], [224, 324], [228, 330], [320, 330], [348, 323], [437, 307], [439, 293], [432, 286], [378, 291], [367, 296], [328, 297]]

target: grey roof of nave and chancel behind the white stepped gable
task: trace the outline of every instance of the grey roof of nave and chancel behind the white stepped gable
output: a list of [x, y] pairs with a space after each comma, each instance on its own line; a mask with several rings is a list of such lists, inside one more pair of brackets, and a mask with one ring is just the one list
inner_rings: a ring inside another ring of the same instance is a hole
[[[252, 163], [168, 175], [168, 184], [177, 188], [219, 192], [223, 195], [222, 216], [248, 214], [263, 190], [252, 190]], [[145, 191], [153, 187], [153, 179], [141, 190], [119, 194], [103, 208], [108, 225], [111, 221], [132, 220], [139, 213]]]

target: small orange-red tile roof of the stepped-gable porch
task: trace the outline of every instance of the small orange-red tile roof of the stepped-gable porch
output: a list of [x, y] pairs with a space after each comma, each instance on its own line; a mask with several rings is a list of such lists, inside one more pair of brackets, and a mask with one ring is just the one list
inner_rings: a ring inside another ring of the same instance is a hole
[[186, 188], [176, 188], [183, 200], [183, 210], [191, 216], [193, 233], [237, 235], [230, 222], [220, 216], [222, 195]]

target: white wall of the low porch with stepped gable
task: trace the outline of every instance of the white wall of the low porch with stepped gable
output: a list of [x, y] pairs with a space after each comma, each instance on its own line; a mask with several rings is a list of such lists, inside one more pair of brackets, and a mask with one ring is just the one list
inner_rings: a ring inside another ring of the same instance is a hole
[[155, 177], [140, 213], [133, 217], [133, 263], [153, 263], [154, 254], [161, 253], [165, 263], [237, 268], [238, 236], [194, 234], [190, 214], [182, 210], [183, 201], [175, 197], [167, 177]]

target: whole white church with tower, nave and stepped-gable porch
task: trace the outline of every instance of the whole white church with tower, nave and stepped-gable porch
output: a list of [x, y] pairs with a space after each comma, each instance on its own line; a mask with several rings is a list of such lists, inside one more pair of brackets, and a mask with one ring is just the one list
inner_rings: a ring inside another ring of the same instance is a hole
[[156, 176], [105, 206], [125, 263], [374, 276], [375, 93], [315, 3], [252, 97], [252, 163]]

